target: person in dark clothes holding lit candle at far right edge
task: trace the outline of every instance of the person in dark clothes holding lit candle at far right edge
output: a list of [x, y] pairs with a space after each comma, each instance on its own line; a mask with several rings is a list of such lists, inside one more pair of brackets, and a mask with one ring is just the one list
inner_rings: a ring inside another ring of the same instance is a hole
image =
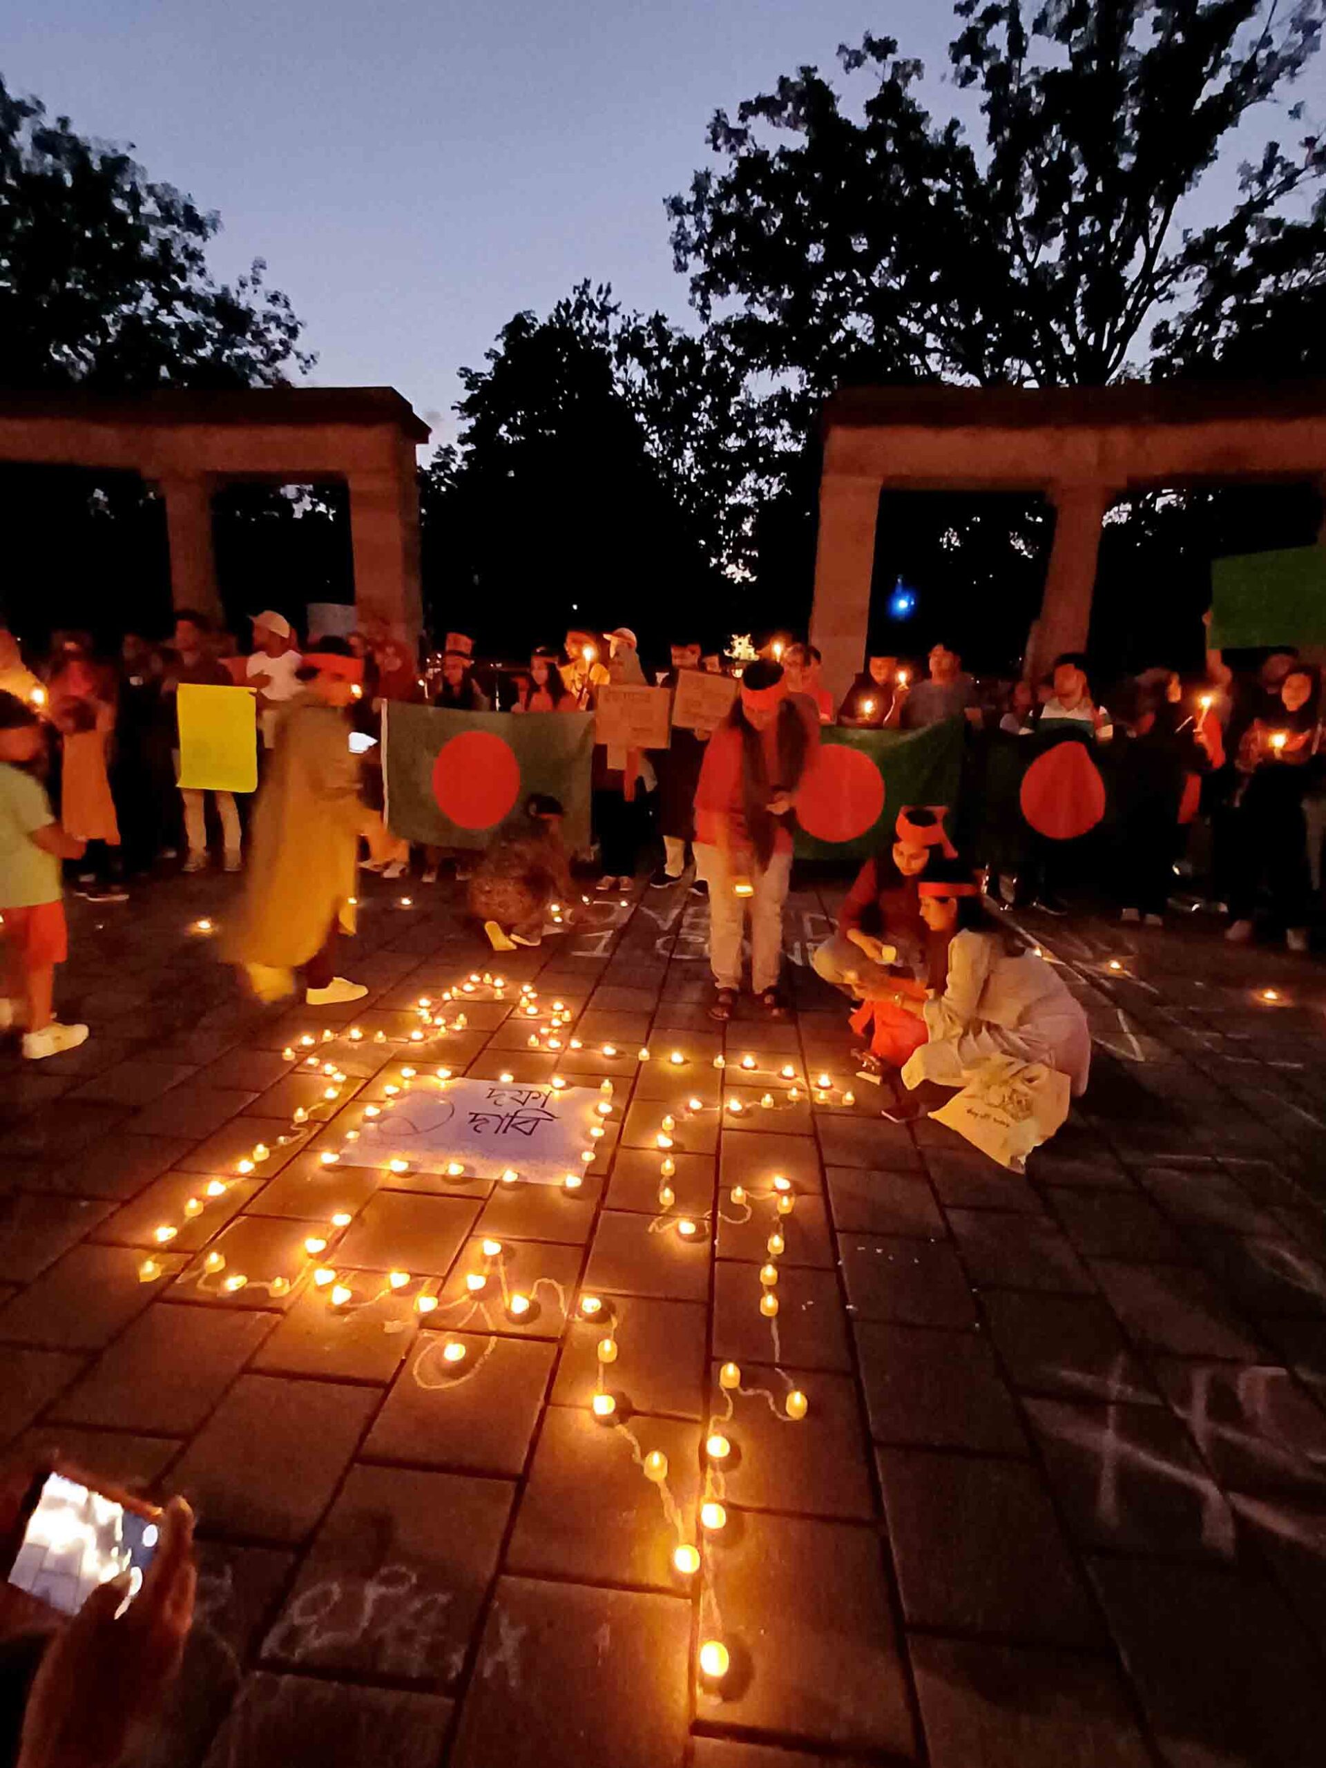
[[1326, 744], [1321, 725], [1321, 681], [1314, 668], [1294, 663], [1280, 682], [1276, 702], [1254, 718], [1239, 744], [1234, 889], [1225, 939], [1241, 946], [1252, 939], [1257, 891], [1264, 882], [1275, 919], [1291, 951], [1308, 949], [1312, 873], [1305, 794], [1322, 778]]

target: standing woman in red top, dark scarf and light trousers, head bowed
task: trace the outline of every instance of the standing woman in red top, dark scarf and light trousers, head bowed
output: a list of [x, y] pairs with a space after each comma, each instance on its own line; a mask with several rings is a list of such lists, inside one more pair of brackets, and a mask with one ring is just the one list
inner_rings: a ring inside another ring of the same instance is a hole
[[709, 962], [718, 988], [713, 1018], [732, 1018], [748, 905], [751, 988], [773, 1018], [787, 1017], [778, 976], [792, 812], [819, 734], [815, 704], [789, 695], [778, 663], [757, 661], [709, 739], [695, 792], [695, 870], [709, 886]]

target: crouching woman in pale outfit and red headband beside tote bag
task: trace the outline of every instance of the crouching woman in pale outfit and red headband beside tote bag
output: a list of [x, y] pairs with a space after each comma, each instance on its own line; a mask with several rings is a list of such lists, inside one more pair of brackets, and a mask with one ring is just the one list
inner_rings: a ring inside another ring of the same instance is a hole
[[981, 907], [981, 886], [958, 859], [932, 859], [918, 886], [925, 925], [944, 941], [941, 978], [919, 1008], [926, 1041], [902, 1071], [909, 1087], [964, 1087], [992, 1055], [1043, 1063], [1087, 1089], [1087, 1017], [1045, 958], [1013, 955]]

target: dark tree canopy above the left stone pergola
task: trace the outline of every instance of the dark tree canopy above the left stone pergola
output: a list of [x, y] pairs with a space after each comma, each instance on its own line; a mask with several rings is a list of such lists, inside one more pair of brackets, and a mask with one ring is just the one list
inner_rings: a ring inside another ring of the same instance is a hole
[[219, 225], [0, 81], [0, 385], [262, 387], [309, 368], [262, 260], [212, 279]]

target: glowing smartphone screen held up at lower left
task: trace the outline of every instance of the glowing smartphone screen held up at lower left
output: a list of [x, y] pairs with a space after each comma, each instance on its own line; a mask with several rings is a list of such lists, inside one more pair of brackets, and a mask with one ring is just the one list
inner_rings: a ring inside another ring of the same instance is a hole
[[133, 1600], [156, 1547], [157, 1526], [150, 1517], [51, 1473], [37, 1494], [9, 1582], [62, 1614], [78, 1614], [97, 1584], [120, 1572], [131, 1574]]

